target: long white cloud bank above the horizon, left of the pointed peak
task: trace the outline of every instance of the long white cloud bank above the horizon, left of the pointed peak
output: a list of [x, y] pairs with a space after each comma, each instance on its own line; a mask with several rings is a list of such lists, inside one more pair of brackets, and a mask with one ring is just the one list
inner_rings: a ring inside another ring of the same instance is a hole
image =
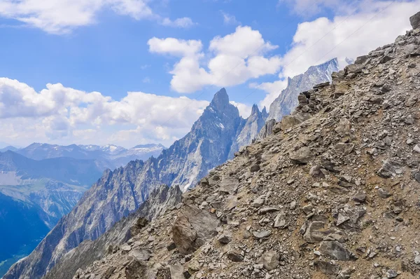
[[25, 83], [0, 78], [0, 137], [15, 142], [171, 144], [183, 137], [209, 102], [129, 92], [117, 101], [48, 84], [39, 93]]

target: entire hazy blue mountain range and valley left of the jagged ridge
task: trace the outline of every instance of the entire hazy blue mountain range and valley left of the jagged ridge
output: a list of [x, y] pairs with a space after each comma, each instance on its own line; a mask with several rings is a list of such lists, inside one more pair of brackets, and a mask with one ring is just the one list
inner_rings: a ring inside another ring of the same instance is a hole
[[22, 149], [1, 149], [0, 227], [8, 229], [0, 231], [0, 238], [10, 241], [0, 247], [0, 275], [34, 250], [106, 168], [157, 157], [163, 149], [161, 144], [124, 149], [111, 144], [101, 147], [38, 143]]

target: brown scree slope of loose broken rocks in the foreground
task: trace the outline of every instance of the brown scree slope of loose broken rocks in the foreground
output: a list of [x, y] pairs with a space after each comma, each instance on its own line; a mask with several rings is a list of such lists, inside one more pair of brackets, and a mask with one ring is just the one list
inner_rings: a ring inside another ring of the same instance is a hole
[[73, 278], [418, 279], [420, 13], [411, 21]]

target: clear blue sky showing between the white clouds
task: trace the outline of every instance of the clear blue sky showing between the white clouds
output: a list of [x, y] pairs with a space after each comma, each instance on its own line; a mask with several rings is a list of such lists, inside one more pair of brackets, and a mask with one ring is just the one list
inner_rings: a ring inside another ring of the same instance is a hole
[[[214, 36], [235, 32], [241, 22], [279, 45], [276, 54], [282, 54], [290, 46], [300, 22], [300, 17], [290, 13], [287, 4], [278, 4], [276, 0], [246, 4], [210, 0], [155, 2], [152, 4], [158, 13], [171, 18], [189, 17], [196, 25], [165, 27], [153, 20], [135, 20], [104, 9], [95, 16], [96, 23], [59, 36], [42, 29], [23, 28], [22, 22], [2, 18], [0, 25], [21, 27], [0, 29], [0, 36], [7, 38], [0, 46], [4, 54], [0, 76], [18, 79], [35, 90], [45, 88], [47, 83], [62, 83], [71, 88], [96, 90], [115, 99], [124, 97], [127, 91], [178, 96], [170, 88], [172, 76], [168, 74], [176, 59], [151, 55], [147, 41], [152, 37], [200, 39], [208, 45]], [[223, 13], [235, 16], [237, 22], [226, 24]], [[235, 95], [240, 96], [244, 89], [249, 90], [246, 87], [230, 90], [231, 97], [235, 100]], [[202, 97], [210, 100], [215, 90], [216, 87], [205, 88]], [[259, 102], [263, 94], [252, 95], [247, 103]]]

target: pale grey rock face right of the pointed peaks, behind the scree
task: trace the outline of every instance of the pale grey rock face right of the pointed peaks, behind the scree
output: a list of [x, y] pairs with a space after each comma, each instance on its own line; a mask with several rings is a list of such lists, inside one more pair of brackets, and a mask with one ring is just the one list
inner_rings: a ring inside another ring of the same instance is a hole
[[285, 115], [289, 115], [297, 106], [297, 95], [311, 89], [318, 83], [331, 81], [332, 72], [338, 71], [338, 60], [332, 59], [323, 64], [312, 66], [307, 72], [288, 78], [286, 89], [281, 91], [279, 97], [269, 106], [269, 119], [280, 121]]

